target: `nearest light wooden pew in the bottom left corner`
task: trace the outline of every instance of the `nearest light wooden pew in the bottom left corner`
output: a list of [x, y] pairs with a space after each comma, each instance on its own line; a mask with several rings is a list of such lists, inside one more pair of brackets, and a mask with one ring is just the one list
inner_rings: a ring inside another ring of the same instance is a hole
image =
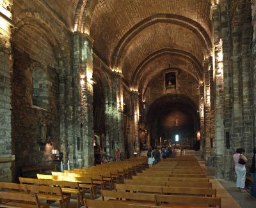
[[49, 204], [40, 204], [36, 194], [0, 191], [0, 207], [49, 208]]

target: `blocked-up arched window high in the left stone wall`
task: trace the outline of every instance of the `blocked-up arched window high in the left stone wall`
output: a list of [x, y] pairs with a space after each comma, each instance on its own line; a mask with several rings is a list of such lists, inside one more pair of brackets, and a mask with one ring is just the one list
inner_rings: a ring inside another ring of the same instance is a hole
[[51, 82], [47, 76], [47, 71], [36, 66], [32, 72], [33, 82], [33, 105], [47, 109], [49, 103], [49, 87]]

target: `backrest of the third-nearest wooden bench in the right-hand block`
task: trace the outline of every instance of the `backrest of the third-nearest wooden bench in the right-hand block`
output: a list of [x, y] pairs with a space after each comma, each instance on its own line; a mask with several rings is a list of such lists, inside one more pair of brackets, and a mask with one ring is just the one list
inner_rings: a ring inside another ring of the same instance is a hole
[[216, 189], [210, 188], [185, 188], [185, 187], [166, 187], [166, 186], [142, 186], [115, 184], [116, 190], [143, 192], [143, 193], [161, 193], [161, 194], [179, 194], [179, 195], [198, 195], [204, 197], [216, 197]]

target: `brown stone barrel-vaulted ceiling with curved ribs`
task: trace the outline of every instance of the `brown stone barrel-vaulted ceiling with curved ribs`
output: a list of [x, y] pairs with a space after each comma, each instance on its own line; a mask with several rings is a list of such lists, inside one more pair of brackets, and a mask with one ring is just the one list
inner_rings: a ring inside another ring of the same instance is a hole
[[131, 89], [143, 94], [169, 64], [202, 80], [212, 48], [211, 0], [42, 1], [73, 31], [90, 33], [93, 52], [122, 71]]

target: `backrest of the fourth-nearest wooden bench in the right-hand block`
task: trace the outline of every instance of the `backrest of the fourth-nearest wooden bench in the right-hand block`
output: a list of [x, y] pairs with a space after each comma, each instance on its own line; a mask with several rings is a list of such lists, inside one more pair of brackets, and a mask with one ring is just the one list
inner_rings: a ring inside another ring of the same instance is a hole
[[125, 179], [125, 184], [129, 185], [148, 185], [148, 186], [175, 186], [175, 187], [194, 187], [194, 188], [212, 188], [211, 182], [190, 182], [190, 181], [151, 181]]

